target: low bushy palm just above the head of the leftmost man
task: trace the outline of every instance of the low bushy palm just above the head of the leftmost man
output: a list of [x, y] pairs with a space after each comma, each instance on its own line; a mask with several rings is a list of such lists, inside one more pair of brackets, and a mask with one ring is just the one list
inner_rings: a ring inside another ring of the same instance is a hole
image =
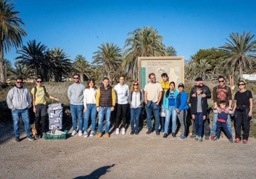
[[15, 65], [15, 69], [12, 69], [11, 79], [16, 79], [17, 77], [23, 78], [23, 80], [28, 80], [34, 78], [35, 75], [32, 69], [27, 68], [23, 64]]

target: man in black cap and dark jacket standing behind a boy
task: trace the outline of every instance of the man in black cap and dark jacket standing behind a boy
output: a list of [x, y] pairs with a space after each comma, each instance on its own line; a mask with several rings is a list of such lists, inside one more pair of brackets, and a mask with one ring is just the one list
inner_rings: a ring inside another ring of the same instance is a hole
[[[203, 78], [198, 77], [195, 79], [195, 86], [192, 87], [191, 92], [190, 92], [190, 100], [192, 97], [196, 96], [196, 87], [197, 86], [201, 86], [202, 87], [202, 98], [211, 98], [211, 91], [209, 89], [209, 87], [207, 87], [206, 85], [203, 84]], [[208, 104], [207, 104], [207, 108], [208, 108]], [[210, 134], [210, 120], [209, 120], [209, 111], [207, 110], [207, 118], [206, 120], [204, 120], [204, 139], [205, 140], [209, 140], [209, 134]], [[191, 139], [195, 138], [195, 121], [193, 120], [193, 130], [192, 130], [192, 135], [189, 137]]]

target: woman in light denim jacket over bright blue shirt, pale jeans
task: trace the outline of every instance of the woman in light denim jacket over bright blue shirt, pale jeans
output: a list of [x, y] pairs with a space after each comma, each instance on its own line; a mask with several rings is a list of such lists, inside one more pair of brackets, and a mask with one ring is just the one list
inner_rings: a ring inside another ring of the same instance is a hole
[[164, 135], [163, 137], [166, 138], [168, 135], [168, 127], [170, 122], [170, 117], [172, 115], [172, 136], [176, 137], [175, 135], [175, 127], [176, 127], [176, 119], [177, 113], [175, 110], [175, 101], [179, 92], [175, 90], [175, 83], [172, 81], [169, 85], [169, 89], [163, 95], [163, 109], [166, 113], [166, 119], [164, 124]]

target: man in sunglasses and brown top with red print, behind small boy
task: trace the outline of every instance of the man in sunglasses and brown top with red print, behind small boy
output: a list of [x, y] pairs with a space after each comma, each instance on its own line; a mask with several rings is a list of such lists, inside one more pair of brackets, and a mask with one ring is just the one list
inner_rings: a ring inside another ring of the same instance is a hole
[[[220, 101], [226, 101], [226, 104], [228, 104], [228, 107], [226, 107], [225, 113], [228, 114], [230, 110], [232, 110], [232, 92], [230, 87], [225, 85], [225, 77], [219, 76], [218, 77], [219, 85], [213, 88], [212, 96], [213, 96], [213, 102], [214, 102], [214, 109], [217, 110], [217, 113], [213, 113], [212, 116], [212, 130], [211, 130], [211, 140], [215, 139], [216, 136], [216, 123], [218, 120], [218, 113], [220, 114], [220, 107], [219, 102]], [[229, 130], [230, 134], [232, 135], [232, 127], [231, 127], [231, 120], [230, 115], [227, 116], [227, 129]]]

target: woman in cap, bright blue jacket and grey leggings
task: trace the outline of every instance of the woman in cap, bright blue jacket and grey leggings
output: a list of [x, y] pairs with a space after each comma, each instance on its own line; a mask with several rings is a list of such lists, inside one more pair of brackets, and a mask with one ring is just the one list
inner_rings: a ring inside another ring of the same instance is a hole
[[175, 110], [177, 112], [177, 116], [180, 121], [181, 126], [181, 135], [177, 137], [180, 140], [186, 139], [186, 115], [187, 109], [189, 106], [187, 105], [188, 94], [184, 91], [184, 84], [180, 83], [178, 85], [179, 94], [177, 95], [176, 102], [175, 102]]

